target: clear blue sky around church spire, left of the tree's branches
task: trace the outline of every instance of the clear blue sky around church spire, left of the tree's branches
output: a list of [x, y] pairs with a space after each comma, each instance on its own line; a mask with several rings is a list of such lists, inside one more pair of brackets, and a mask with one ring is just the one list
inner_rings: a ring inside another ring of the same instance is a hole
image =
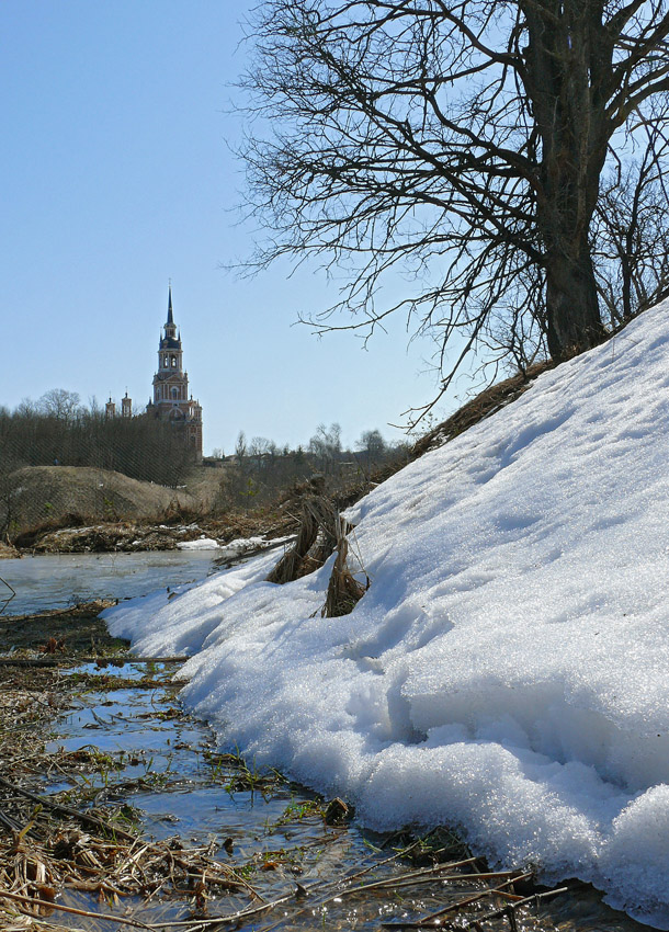
[[252, 246], [229, 102], [253, 4], [0, 2], [0, 405], [127, 389], [143, 408], [169, 279], [205, 453], [240, 430], [297, 445], [332, 421], [347, 443], [398, 437], [387, 423], [432, 397], [430, 346], [407, 351], [402, 321], [368, 351], [318, 339], [296, 319], [336, 299], [322, 276], [223, 269]]

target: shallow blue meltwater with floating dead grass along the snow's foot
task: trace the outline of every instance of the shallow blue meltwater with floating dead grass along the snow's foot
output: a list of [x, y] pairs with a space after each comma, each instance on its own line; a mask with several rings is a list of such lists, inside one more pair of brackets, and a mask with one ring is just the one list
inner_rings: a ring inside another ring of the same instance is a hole
[[[152, 669], [161, 675], [174, 668], [154, 664]], [[134, 664], [133, 669], [110, 668], [105, 675], [134, 678], [146, 670], [144, 664]], [[82, 667], [79, 672], [95, 670]], [[211, 846], [215, 860], [246, 871], [253, 889], [265, 901], [285, 898], [277, 908], [246, 922], [242, 928], [249, 932], [377, 932], [379, 923], [388, 921], [396, 923], [399, 932], [402, 919], [418, 920], [444, 903], [480, 891], [480, 886], [470, 880], [453, 885], [434, 878], [420, 886], [407, 886], [404, 878], [411, 865], [387, 862], [392, 849], [379, 851], [379, 837], [365, 833], [355, 822], [347, 828], [329, 828], [321, 816], [295, 818], [296, 808], [314, 800], [306, 789], [285, 783], [259, 792], [237, 789], [235, 769], [218, 770], [215, 760], [207, 757], [207, 750], [214, 750], [207, 725], [182, 714], [162, 714], [173, 707], [171, 690], [121, 685], [104, 693], [86, 691], [79, 702], [79, 708], [56, 723], [58, 738], [47, 747], [49, 753], [57, 758], [59, 749], [72, 752], [94, 747], [111, 754], [118, 766], [104, 777], [91, 775], [86, 780], [94, 805], [132, 806], [149, 838], [178, 838], [184, 848]], [[46, 788], [54, 793], [72, 785], [67, 776], [56, 776], [54, 772]], [[265, 870], [268, 864], [275, 866]], [[368, 873], [358, 884], [394, 878], [399, 884], [340, 894], [342, 877], [360, 871]], [[308, 893], [306, 898], [295, 897], [297, 883]], [[100, 908], [93, 897], [72, 890], [66, 890], [59, 901], [93, 911]], [[124, 899], [122, 908], [127, 907], [145, 922], [157, 923], [154, 928], [174, 921], [182, 921], [188, 928], [191, 906], [184, 900], [143, 902], [131, 897]], [[492, 906], [490, 901], [483, 903], [480, 910], [486, 912]], [[215, 897], [211, 907], [214, 914], [229, 916], [249, 908], [249, 897]], [[458, 928], [472, 918], [469, 913], [460, 919]], [[59, 916], [58, 921], [66, 928], [91, 932], [99, 928], [67, 914]], [[105, 925], [109, 932], [123, 932], [125, 928], [114, 922]], [[524, 910], [518, 917], [518, 928], [520, 932], [643, 932], [647, 927], [608, 909], [596, 890], [585, 887], [545, 901], [537, 913]], [[486, 924], [486, 929], [507, 932], [508, 920], [500, 918]]]

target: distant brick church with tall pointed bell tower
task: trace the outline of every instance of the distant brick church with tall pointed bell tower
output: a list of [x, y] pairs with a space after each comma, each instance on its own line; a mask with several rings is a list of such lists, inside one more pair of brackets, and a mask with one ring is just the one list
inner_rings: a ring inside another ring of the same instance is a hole
[[[121, 413], [129, 418], [133, 414], [132, 400], [121, 400]], [[189, 374], [183, 371], [183, 350], [181, 333], [177, 330], [172, 310], [172, 285], [169, 286], [168, 316], [158, 343], [158, 372], [154, 375], [154, 398], [146, 407], [148, 417], [170, 421], [183, 430], [184, 442], [193, 451], [197, 462], [202, 459], [202, 407], [189, 394]], [[106, 402], [107, 417], [115, 417], [116, 405], [112, 399]]]

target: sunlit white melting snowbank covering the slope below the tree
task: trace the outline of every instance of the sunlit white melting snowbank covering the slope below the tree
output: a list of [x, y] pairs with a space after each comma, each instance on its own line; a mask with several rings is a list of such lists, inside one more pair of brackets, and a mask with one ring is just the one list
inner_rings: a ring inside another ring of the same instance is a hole
[[669, 303], [542, 375], [349, 515], [371, 588], [272, 557], [110, 629], [193, 652], [220, 740], [376, 828], [460, 826], [669, 929]]

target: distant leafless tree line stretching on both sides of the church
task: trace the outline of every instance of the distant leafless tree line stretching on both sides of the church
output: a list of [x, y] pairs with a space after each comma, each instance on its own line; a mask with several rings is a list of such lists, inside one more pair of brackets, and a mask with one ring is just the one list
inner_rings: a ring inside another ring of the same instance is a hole
[[[322, 477], [328, 493], [337, 493], [368, 485], [379, 467], [404, 465], [407, 458], [408, 445], [388, 443], [378, 430], [364, 431], [352, 450], [344, 447], [338, 423], [319, 424], [296, 448], [263, 436], [247, 441], [241, 431], [230, 456], [215, 450], [208, 461], [222, 466], [214, 511], [271, 507], [314, 475]], [[179, 424], [146, 416], [107, 417], [95, 401], [83, 406], [73, 391], [52, 389], [13, 411], [0, 407], [0, 536], [12, 520], [22, 467], [89, 466], [175, 487], [185, 484], [192, 465]]]

